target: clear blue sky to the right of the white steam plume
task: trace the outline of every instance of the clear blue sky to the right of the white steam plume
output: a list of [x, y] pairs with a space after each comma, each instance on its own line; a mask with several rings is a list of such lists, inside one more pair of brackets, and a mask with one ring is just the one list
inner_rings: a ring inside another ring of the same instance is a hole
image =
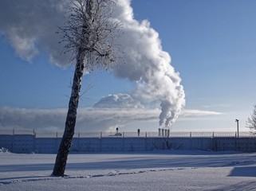
[[163, 49], [171, 54], [171, 64], [182, 78], [186, 108], [223, 113], [202, 123], [195, 120], [193, 127], [205, 124], [207, 131], [214, 123], [216, 128], [231, 130], [234, 118], [244, 126], [256, 96], [256, 2], [132, 3], [136, 18], [151, 22]]

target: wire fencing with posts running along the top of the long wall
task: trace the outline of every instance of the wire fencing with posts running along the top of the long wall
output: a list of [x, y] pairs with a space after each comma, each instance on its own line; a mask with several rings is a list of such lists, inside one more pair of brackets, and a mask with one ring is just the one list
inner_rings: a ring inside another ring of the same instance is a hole
[[[61, 138], [63, 131], [41, 132], [35, 130], [0, 130], [0, 134], [32, 134], [36, 138]], [[214, 131], [214, 132], [178, 132], [178, 131], [155, 131], [155, 132], [75, 132], [74, 138], [101, 138], [101, 137], [173, 137], [173, 138], [214, 138], [214, 137], [251, 137], [256, 138], [255, 134], [249, 131]]]

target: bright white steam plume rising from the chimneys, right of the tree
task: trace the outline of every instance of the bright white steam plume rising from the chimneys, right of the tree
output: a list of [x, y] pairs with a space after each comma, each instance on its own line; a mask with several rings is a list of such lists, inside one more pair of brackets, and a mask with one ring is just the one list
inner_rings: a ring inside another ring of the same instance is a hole
[[126, 64], [115, 69], [116, 76], [138, 83], [132, 96], [146, 101], [160, 100], [160, 126], [169, 127], [185, 104], [179, 73], [161, 47], [159, 34], [148, 21], [136, 21], [130, 1], [119, 0], [116, 18], [124, 25], [121, 49]]

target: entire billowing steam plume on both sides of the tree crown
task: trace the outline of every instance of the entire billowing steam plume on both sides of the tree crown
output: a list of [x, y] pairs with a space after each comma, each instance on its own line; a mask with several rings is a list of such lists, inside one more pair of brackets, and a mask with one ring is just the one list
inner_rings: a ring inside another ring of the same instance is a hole
[[[18, 57], [31, 61], [40, 51], [49, 53], [49, 62], [69, 64], [69, 56], [61, 54], [57, 26], [64, 25], [69, 0], [2, 0], [0, 1], [0, 35], [10, 41]], [[125, 64], [114, 69], [120, 78], [135, 81], [133, 99], [141, 102], [160, 101], [160, 126], [170, 126], [185, 104], [179, 73], [171, 66], [159, 34], [148, 21], [136, 21], [130, 0], [118, 0], [115, 19], [124, 25], [120, 49]]]

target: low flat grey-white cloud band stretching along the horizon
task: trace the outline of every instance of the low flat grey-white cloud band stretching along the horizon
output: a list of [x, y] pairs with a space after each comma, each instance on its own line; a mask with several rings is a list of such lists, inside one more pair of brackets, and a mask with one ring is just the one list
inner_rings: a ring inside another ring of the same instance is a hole
[[[67, 109], [0, 108], [1, 129], [64, 131]], [[77, 112], [76, 131], [109, 131], [138, 121], [157, 121], [160, 109], [148, 108], [81, 108]], [[184, 111], [181, 118], [220, 115], [215, 111]], [[132, 130], [134, 131], [134, 130]]]

